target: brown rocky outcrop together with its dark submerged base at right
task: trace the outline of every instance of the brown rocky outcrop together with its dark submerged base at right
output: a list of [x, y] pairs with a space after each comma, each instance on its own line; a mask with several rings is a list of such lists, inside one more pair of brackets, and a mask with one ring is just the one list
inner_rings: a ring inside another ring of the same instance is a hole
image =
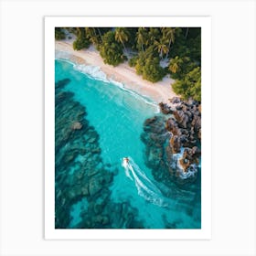
[[145, 163], [165, 184], [192, 182], [201, 157], [201, 105], [175, 97], [159, 107], [166, 118], [155, 116], [144, 122]]

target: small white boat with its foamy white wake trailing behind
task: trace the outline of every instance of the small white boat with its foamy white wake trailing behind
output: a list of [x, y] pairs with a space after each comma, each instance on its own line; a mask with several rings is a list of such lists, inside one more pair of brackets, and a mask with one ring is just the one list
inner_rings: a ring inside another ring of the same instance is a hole
[[125, 176], [134, 182], [139, 196], [144, 197], [145, 200], [157, 206], [169, 206], [169, 199], [163, 196], [161, 190], [144, 174], [140, 167], [135, 164], [133, 158], [129, 157], [129, 161], [123, 158], [122, 165]]

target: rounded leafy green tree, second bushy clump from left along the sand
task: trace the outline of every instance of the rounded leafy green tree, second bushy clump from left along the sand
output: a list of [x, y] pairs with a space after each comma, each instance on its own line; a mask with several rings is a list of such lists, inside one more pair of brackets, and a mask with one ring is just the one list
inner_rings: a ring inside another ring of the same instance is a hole
[[123, 47], [121, 43], [118, 43], [115, 40], [114, 32], [108, 31], [102, 37], [100, 54], [104, 63], [110, 64], [114, 67], [123, 62]]

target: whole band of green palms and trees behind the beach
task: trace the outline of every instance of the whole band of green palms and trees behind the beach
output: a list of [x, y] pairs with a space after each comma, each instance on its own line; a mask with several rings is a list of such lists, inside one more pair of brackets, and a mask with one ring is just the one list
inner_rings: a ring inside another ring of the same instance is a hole
[[[165, 75], [175, 79], [173, 90], [184, 99], [201, 101], [200, 27], [68, 27], [76, 36], [73, 48], [92, 44], [104, 63], [117, 66], [128, 60], [144, 80], [156, 82]], [[62, 28], [55, 28], [63, 39]]]

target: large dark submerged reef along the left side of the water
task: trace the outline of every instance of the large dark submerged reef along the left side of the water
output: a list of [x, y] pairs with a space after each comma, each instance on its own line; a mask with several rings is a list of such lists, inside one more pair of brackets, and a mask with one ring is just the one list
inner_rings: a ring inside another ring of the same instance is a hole
[[[139, 229], [137, 210], [111, 200], [112, 166], [101, 159], [99, 134], [86, 110], [63, 91], [69, 80], [55, 84], [55, 227], [56, 229]], [[74, 219], [74, 206], [84, 204]]]

